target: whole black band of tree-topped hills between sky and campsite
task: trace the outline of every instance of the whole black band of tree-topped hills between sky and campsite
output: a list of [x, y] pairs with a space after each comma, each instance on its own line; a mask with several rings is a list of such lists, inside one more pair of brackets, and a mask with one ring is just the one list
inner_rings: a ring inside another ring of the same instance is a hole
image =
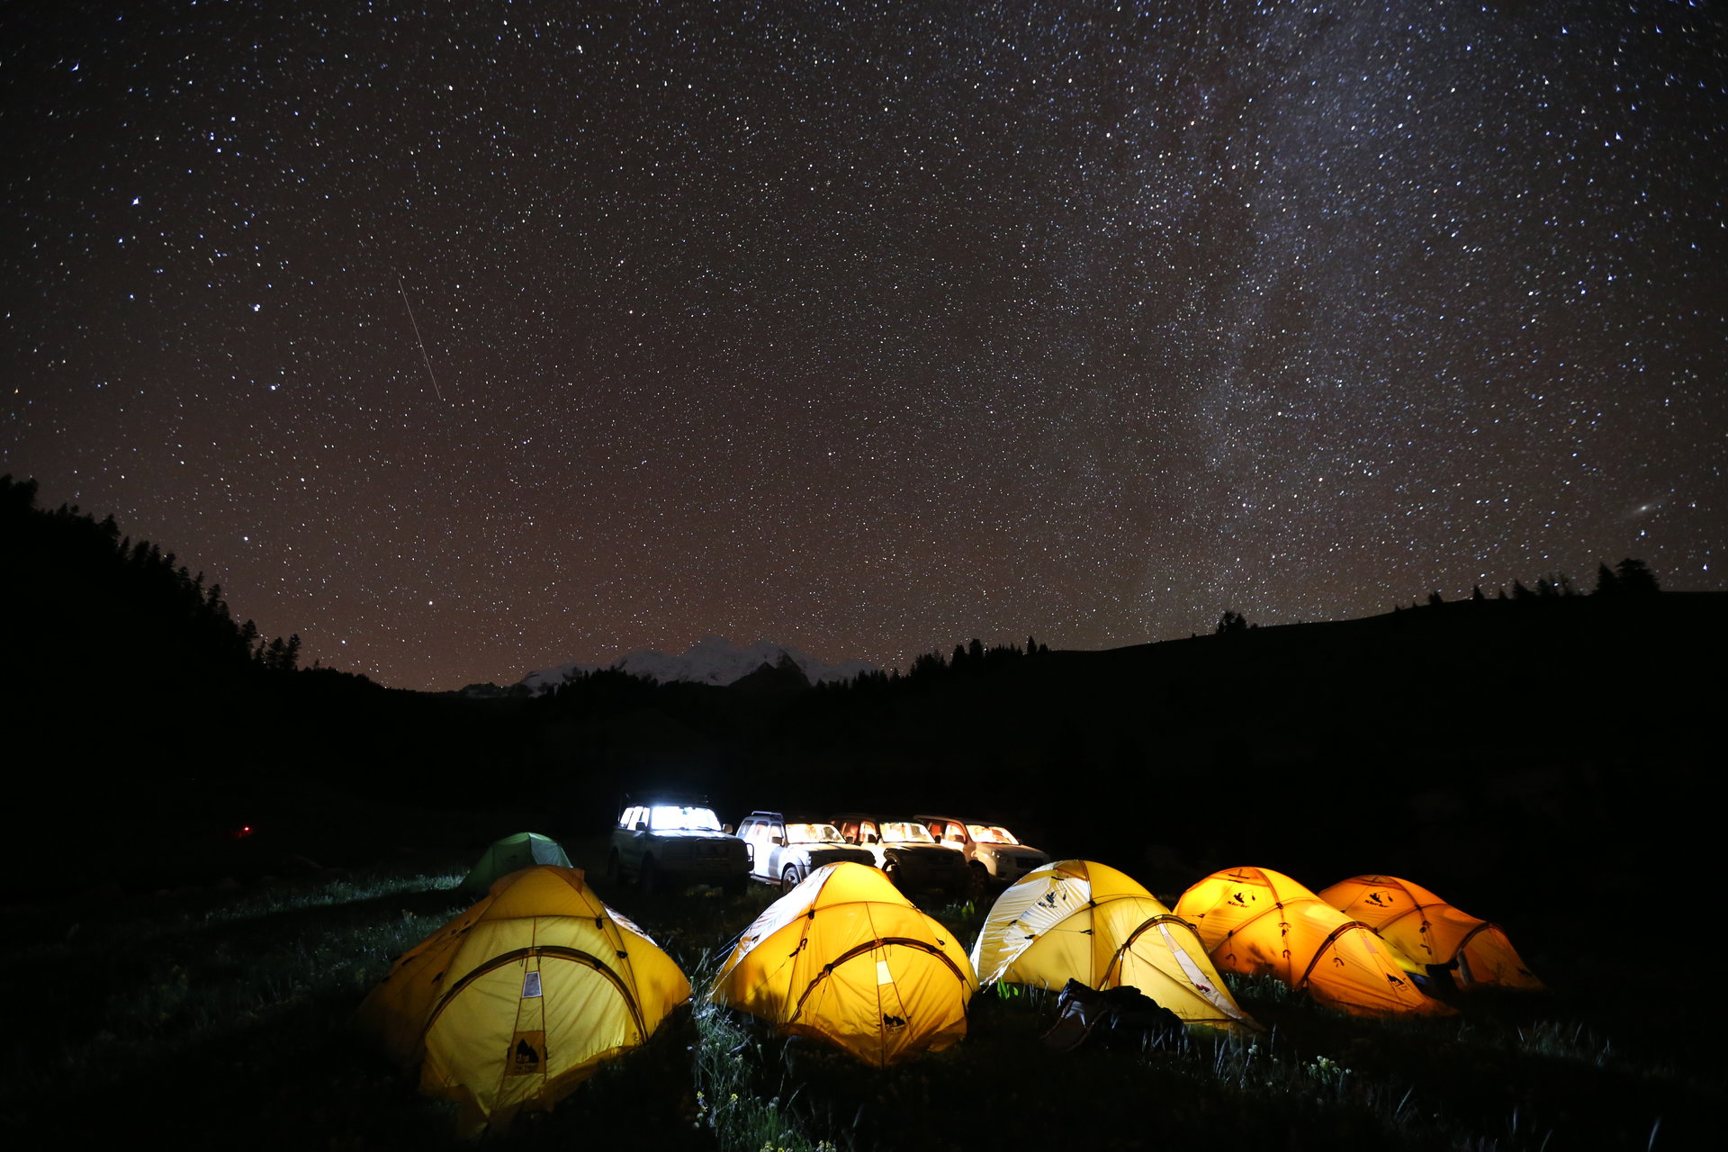
[[620, 794], [672, 786], [727, 820], [1001, 819], [1165, 895], [1258, 864], [1315, 886], [1401, 872], [1491, 910], [1509, 877], [1630, 891], [1712, 822], [1728, 596], [1661, 592], [1638, 560], [1591, 594], [1555, 573], [1337, 623], [1225, 611], [1113, 651], [975, 639], [845, 684], [764, 665], [726, 689], [601, 670], [539, 698], [423, 694], [295, 670], [292, 639], [261, 642], [171, 554], [36, 510], [33, 485], [0, 496], [12, 746], [41, 750], [24, 769], [76, 794], [128, 884], [206, 867], [240, 822], [359, 864], [524, 819], [600, 831]]

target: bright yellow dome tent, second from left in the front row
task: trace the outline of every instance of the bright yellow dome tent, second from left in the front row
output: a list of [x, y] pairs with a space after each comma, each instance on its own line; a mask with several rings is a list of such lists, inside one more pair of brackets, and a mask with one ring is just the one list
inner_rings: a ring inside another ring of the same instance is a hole
[[881, 870], [828, 864], [738, 938], [708, 998], [886, 1067], [966, 1035], [978, 990], [954, 934]]

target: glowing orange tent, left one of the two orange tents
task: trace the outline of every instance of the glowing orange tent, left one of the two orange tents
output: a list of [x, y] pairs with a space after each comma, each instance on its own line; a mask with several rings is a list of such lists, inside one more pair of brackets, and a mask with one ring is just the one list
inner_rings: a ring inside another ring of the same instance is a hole
[[1182, 893], [1177, 915], [1225, 972], [1277, 976], [1353, 1016], [1452, 1012], [1417, 988], [1420, 965], [1282, 872], [1213, 872]]

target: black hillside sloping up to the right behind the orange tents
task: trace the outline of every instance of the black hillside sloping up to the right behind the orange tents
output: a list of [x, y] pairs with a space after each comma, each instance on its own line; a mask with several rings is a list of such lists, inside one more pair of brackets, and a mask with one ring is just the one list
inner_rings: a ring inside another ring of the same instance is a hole
[[1700, 655], [1725, 623], [1716, 594], [1564, 598], [1058, 651], [788, 717], [785, 741], [829, 779], [1178, 876], [1469, 883], [1564, 855], [1633, 883], [1707, 819], [1723, 677]]

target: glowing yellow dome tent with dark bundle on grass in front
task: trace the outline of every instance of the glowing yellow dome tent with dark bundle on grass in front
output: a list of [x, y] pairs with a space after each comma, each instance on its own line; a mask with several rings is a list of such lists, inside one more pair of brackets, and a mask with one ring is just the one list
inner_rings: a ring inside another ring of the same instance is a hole
[[1128, 876], [1090, 860], [1026, 872], [997, 896], [971, 952], [980, 984], [1139, 988], [1187, 1024], [1258, 1029], [1194, 927]]

